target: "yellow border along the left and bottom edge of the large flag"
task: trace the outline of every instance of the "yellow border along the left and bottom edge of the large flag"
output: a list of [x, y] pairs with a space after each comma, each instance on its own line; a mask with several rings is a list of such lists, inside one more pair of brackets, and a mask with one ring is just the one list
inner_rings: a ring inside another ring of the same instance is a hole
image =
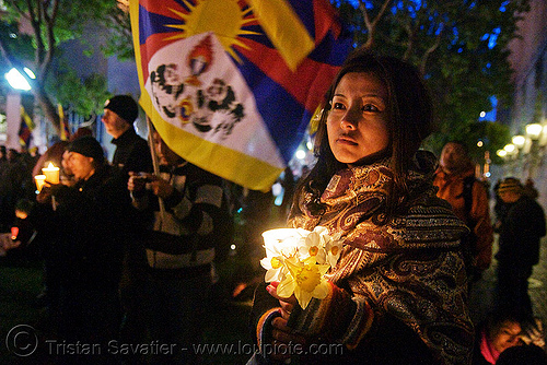
[[[139, 0], [130, 0], [129, 13], [131, 16], [137, 72], [141, 89], [139, 104], [150, 120], [152, 120], [165, 143], [174, 152], [184, 156], [189, 163], [214, 175], [253, 190], [269, 191], [276, 179], [283, 172], [283, 167], [272, 166], [238, 151], [212, 143], [163, 120], [154, 108], [148, 91], [144, 89], [139, 47]], [[184, 141], [184, 143], [181, 143], [181, 141]], [[213, 168], [207, 166], [213, 166]]]

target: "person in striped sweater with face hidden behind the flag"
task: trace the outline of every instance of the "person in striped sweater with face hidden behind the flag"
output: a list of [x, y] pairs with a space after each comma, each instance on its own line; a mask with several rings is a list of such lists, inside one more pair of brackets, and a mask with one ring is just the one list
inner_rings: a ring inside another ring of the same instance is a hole
[[156, 131], [153, 141], [161, 174], [131, 173], [127, 184], [133, 207], [154, 210], [146, 234], [150, 335], [181, 346], [159, 364], [194, 364], [228, 207], [220, 177], [178, 156]]

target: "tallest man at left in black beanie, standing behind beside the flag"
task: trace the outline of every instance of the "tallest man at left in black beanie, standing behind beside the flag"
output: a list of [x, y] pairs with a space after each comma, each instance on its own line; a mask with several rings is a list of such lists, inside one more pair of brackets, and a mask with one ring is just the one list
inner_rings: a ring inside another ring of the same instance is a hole
[[[152, 173], [152, 156], [148, 142], [139, 137], [133, 122], [139, 116], [139, 107], [129, 95], [115, 95], [104, 105], [104, 115], [101, 118], [106, 132], [113, 137], [110, 143], [116, 145], [112, 164], [119, 168], [126, 179], [129, 172]], [[144, 323], [143, 293], [146, 285], [146, 255], [144, 244], [141, 240], [142, 228], [150, 219], [151, 212], [132, 211], [135, 229], [131, 233], [124, 255], [124, 274], [120, 282], [121, 303], [124, 305], [124, 322], [121, 333], [124, 341], [142, 343], [146, 341], [147, 329]], [[135, 357], [135, 358], [133, 358]], [[129, 363], [138, 364], [140, 356], [129, 356]]]

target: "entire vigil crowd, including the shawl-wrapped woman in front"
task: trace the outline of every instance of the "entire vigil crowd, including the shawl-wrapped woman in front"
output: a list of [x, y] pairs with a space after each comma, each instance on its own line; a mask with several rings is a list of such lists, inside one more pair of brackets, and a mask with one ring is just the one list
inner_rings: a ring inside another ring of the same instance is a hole
[[[447, 142], [440, 158], [420, 150], [434, 128], [432, 105], [407, 62], [356, 50], [342, 64], [323, 103], [316, 163], [282, 208], [289, 226], [323, 226], [339, 237], [339, 259], [323, 298], [305, 308], [294, 295], [281, 296], [277, 281], [256, 285], [249, 321], [259, 351], [249, 365], [294, 357], [299, 364], [547, 363], [527, 286], [546, 234], [544, 210], [529, 185], [509, 177], [493, 189], [491, 216], [488, 187], [475, 177], [464, 142]], [[225, 185], [178, 156], [153, 128], [150, 143], [140, 138], [137, 116], [131, 97], [110, 98], [102, 120], [116, 145], [112, 163], [84, 133], [45, 153], [62, 166], [59, 184], [48, 181], [35, 196], [30, 178], [31, 191], [10, 198], [13, 215], [22, 212], [21, 232], [24, 221], [42, 239], [48, 305], [67, 342], [199, 342], [216, 252], [230, 236]], [[255, 200], [271, 202], [263, 197]], [[251, 215], [261, 227], [260, 214]], [[10, 220], [4, 232], [16, 219]], [[5, 249], [18, 245], [14, 238], [2, 236]], [[474, 322], [469, 293], [492, 258], [494, 305]], [[331, 344], [344, 351], [311, 351]], [[104, 354], [58, 361], [144, 361]], [[158, 363], [199, 357], [173, 352]]]

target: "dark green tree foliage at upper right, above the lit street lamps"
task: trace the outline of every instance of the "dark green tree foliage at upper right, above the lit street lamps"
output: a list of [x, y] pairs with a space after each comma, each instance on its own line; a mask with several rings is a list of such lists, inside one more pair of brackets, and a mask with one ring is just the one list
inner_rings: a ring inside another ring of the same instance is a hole
[[[373, 20], [385, 1], [360, 2]], [[356, 42], [364, 44], [371, 34], [361, 11], [349, 0], [335, 3]], [[507, 46], [516, 37], [519, 14], [528, 10], [528, 0], [391, 1], [374, 30], [372, 49], [407, 59], [422, 71], [434, 96], [439, 126], [427, 140], [428, 148], [439, 153], [445, 141], [464, 140], [473, 151], [481, 140], [487, 141], [482, 149], [496, 151], [510, 141], [507, 127], [477, 120], [481, 111], [492, 109], [492, 95], [499, 105], [511, 105]]]

